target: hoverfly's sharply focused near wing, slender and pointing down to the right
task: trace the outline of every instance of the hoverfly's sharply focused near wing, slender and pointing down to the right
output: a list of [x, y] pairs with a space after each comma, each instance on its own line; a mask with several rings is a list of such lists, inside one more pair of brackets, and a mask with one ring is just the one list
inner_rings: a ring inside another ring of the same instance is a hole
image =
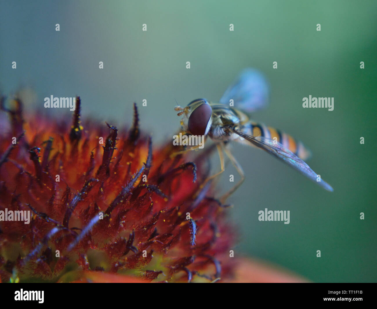
[[230, 131], [235, 134], [238, 134], [245, 140], [250, 141], [250, 143], [252, 143], [254, 146], [261, 148], [267, 151], [268, 153], [274, 155], [275, 157], [284, 161], [294, 169], [297, 169], [297, 171], [308, 177], [310, 180], [313, 180], [315, 183], [319, 184], [322, 188], [326, 189], [327, 191], [334, 191], [334, 189], [322, 179], [321, 181], [317, 182], [317, 174], [308, 166], [308, 164], [306, 164], [303, 160], [297, 157], [293, 152], [285, 148], [282, 144], [277, 143], [276, 141], [266, 137], [253, 137], [234, 128], [230, 128]]

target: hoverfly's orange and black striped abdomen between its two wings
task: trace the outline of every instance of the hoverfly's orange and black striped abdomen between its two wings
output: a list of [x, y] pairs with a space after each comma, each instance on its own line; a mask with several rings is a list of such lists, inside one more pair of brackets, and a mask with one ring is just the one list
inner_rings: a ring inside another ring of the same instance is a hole
[[311, 157], [311, 152], [305, 148], [300, 141], [294, 139], [284, 132], [279, 131], [278, 129], [274, 129], [254, 121], [249, 121], [248, 123], [245, 123], [240, 130], [254, 137], [262, 136], [270, 138], [271, 140], [276, 138], [278, 143], [282, 144], [285, 148], [289, 149], [291, 152], [297, 155], [297, 157], [304, 161]]

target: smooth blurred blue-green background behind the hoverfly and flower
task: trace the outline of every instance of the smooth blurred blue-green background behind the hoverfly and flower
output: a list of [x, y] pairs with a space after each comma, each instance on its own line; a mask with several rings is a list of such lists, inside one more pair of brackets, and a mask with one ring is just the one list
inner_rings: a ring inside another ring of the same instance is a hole
[[[26, 109], [40, 112], [44, 97], [80, 95], [84, 116], [116, 125], [130, 123], [136, 101], [155, 145], [179, 128], [176, 101], [219, 100], [239, 71], [259, 69], [270, 105], [253, 119], [302, 140], [311, 168], [334, 192], [265, 152], [234, 145], [246, 173], [230, 198], [241, 230], [235, 255], [317, 282], [377, 281], [376, 1], [2, 0], [0, 8], [1, 92], [32, 89]], [[309, 95], [334, 97], [334, 111], [303, 109]], [[221, 191], [229, 174], [238, 179], [230, 164], [224, 174]], [[290, 224], [258, 221], [265, 208], [290, 210]]]

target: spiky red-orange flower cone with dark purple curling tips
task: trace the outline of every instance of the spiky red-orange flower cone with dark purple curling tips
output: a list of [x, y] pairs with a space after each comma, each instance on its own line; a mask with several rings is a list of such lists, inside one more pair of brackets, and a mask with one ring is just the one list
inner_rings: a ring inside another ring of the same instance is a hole
[[211, 185], [202, 186], [210, 149], [189, 161], [173, 156], [182, 149], [171, 141], [152, 146], [136, 105], [127, 130], [81, 122], [79, 97], [73, 124], [23, 115], [18, 99], [12, 108], [5, 102], [0, 211], [32, 217], [29, 224], [0, 221], [2, 282], [90, 281], [88, 274], [154, 282], [231, 277], [233, 228]]

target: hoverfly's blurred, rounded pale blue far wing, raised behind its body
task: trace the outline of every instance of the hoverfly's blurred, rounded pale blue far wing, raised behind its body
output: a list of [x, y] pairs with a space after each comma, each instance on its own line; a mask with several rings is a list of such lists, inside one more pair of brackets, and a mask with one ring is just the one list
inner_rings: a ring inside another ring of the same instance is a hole
[[260, 72], [245, 69], [222, 95], [220, 103], [229, 105], [231, 99], [235, 108], [247, 112], [264, 108], [268, 100], [267, 81]]

